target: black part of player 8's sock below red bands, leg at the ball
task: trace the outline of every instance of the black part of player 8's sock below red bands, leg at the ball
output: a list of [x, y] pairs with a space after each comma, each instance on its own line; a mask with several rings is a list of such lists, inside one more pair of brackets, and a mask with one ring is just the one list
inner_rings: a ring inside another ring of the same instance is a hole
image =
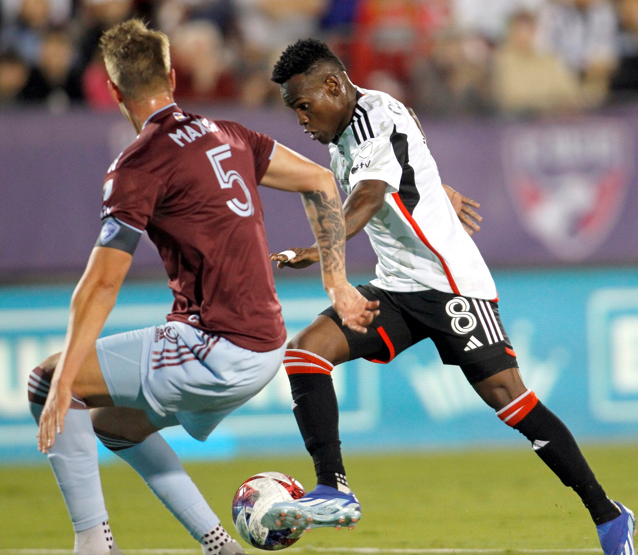
[[347, 487], [339, 441], [339, 406], [332, 376], [290, 374], [288, 378], [295, 407], [293, 412], [306, 449], [315, 461], [317, 484]]

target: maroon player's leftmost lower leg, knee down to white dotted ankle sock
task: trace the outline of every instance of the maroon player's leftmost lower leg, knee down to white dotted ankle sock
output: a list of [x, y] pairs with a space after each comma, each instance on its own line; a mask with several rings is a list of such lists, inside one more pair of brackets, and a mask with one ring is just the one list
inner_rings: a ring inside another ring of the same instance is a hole
[[[47, 401], [58, 359], [59, 355], [49, 357], [29, 375], [29, 408], [36, 422], [40, 421]], [[47, 457], [73, 522], [73, 553], [120, 553], [108, 524], [91, 418], [84, 399], [77, 394], [73, 394], [64, 422], [64, 433], [57, 436]]]

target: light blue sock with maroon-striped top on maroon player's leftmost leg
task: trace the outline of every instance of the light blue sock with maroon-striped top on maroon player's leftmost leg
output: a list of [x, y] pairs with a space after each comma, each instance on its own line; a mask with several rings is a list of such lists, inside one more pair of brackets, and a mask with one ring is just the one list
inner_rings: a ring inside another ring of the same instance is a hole
[[[41, 368], [29, 376], [29, 408], [36, 423], [40, 422], [49, 383]], [[91, 416], [82, 405], [80, 399], [73, 397], [64, 418], [64, 431], [56, 435], [47, 455], [76, 532], [108, 521], [98, 468], [98, 445]]]

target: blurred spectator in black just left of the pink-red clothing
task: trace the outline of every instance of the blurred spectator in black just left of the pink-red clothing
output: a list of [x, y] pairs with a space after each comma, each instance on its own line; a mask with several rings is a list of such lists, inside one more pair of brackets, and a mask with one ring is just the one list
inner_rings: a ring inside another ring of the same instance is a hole
[[42, 41], [40, 59], [31, 69], [29, 80], [20, 94], [22, 100], [46, 102], [61, 109], [71, 101], [82, 99], [79, 76], [72, 69], [73, 43], [65, 31], [51, 31]]

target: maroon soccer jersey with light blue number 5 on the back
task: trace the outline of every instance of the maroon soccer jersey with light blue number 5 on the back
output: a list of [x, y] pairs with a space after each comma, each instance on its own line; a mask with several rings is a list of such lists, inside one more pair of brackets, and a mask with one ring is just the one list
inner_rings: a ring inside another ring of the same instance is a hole
[[275, 142], [170, 105], [108, 168], [102, 218], [146, 230], [168, 272], [168, 320], [257, 352], [286, 339], [257, 185]]

